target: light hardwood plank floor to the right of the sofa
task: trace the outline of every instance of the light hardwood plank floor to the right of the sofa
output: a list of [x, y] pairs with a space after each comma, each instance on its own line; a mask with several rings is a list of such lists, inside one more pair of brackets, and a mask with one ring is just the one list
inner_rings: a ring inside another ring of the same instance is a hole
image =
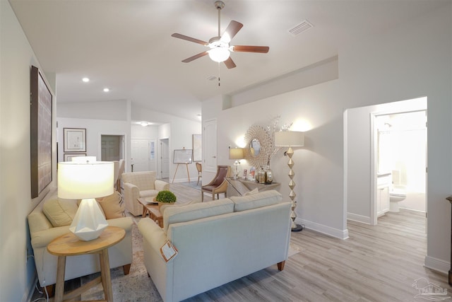
[[[180, 199], [201, 198], [199, 190], [182, 185], [170, 190]], [[382, 216], [377, 226], [348, 221], [346, 240], [309, 230], [292, 233], [301, 251], [283, 272], [274, 265], [187, 301], [428, 301], [415, 298], [416, 279], [449, 292], [452, 287], [446, 274], [423, 267], [424, 225], [424, 214], [400, 211]]]

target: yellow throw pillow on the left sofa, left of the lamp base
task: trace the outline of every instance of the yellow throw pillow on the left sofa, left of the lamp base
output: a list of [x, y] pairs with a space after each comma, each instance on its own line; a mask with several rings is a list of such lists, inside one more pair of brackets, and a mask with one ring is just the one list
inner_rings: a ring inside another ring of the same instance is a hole
[[77, 213], [76, 199], [62, 199], [57, 196], [51, 197], [44, 202], [42, 211], [49, 219], [52, 226], [69, 226]]

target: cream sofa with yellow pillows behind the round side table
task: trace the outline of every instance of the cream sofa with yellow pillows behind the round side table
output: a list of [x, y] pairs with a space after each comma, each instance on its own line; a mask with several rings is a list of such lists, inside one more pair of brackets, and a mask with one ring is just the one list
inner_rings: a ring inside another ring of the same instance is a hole
[[[59, 200], [59, 202], [57, 202]], [[49, 204], [44, 206], [46, 202], [52, 205], [52, 209], [49, 209]], [[42, 199], [42, 202], [37, 204], [35, 209], [28, 214], [28, 227], [30, 228], [31, 245], [33, 253], [35, 255], [35, 265], [37, 271], [37, 277], [41, 286], [46, 286], [49, 290], [52, 290], [52, 285], [55, 284], [57, 279], [57, 260], [58, 257], [51, 255], [47, 251], [47, 245], [61, 235], [69, 233], [69, 224], [75, 215], [77, 210], [77, 200], [72, 199], [59, 199], [57, 197], [57, 190], [53, 188], [46, 197]], [[106, 202], [107, 204], [103, 204]], [[119, 206], [111, 202], [114, 200], [114, 194], [112, 198], [107, 200], [103, 199], [102, 211], [105, 215], [110, 214], [112, 216], [121, 216], [119, 214]], [[61, 208], [59, 210], [58, 208]], [[44, 211], [46, 214], [44, 214]], [[49, 216], [49, 211], [52, 211], [52, 216]], [[124, 209], [122, 209], [124, 213]], [[50, 219], [48, 218], [50, 217]], [[66, 221], [66, 222], [64, 222]], [[65, 226], [54, 226], [52, 223], [66, 224]], [[113, 245], [108, 249], [109, 264], [111, 268], [123, 267], [124, 274], [129, 274], [130, 265], [132, 263], [132, 226], [133, 221], [131, 217], [120, 217], [114, 219], [108, 219], [109, 226], [117, 226], [124, 228], [126, 231], [126, 237]], [[66, 258], [66, 274], [65, 280], [74, 279], [76, 277], [82, 277], [88, 274], [100, 272], [99, 257], [97, 255], [79, 255]]]

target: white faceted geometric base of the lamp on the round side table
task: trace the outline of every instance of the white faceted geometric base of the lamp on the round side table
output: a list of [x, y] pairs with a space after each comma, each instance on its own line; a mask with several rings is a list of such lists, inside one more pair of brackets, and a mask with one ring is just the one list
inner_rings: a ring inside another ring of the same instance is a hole
[[80, 240], [98, 238], [108, 223], [95, 199], [82, 199], [69, 231]]

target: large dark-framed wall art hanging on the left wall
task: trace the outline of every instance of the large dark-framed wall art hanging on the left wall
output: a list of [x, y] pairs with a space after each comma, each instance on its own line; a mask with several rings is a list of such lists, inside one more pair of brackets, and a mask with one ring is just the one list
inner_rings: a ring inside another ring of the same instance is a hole
[[52, 93], [40, 70], [30, 69], [31, 197], [52, 182]]

